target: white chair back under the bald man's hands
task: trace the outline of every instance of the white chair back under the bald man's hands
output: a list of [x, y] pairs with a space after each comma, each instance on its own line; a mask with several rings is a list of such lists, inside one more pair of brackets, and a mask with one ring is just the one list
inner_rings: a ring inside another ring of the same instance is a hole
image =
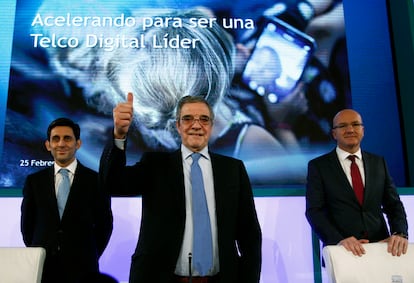
[[406, 254], [392, 256], [387, 243], [364, 244], [365, 254], [353, 255], [343, 246], [322, 250], [328, 280], [331, 283], [406, 283], [414, 282], [414, 243]]

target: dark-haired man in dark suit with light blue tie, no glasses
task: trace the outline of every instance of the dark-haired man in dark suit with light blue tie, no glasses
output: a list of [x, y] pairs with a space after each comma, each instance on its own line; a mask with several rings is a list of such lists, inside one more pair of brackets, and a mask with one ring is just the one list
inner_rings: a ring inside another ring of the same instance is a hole
[[[46, 249], [42, 282], [98, 282], [98, 260], [112, 233], [110, 197], [98, 188], [98, 174], [75, 157], [81, 146], [78, 124], [56, 119], [47, 129], [45, 145], [55, 162], [26, 179], [21, 206], [24, 243]], [[60, 212], [61, 168], [69, 170], [71, 185]]]

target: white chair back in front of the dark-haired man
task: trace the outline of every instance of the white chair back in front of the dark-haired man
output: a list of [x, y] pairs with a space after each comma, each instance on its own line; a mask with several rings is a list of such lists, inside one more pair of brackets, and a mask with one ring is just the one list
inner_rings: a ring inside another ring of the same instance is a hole
[[45, 258], [43, 248], [0, 247], [0, 281], [40, 283]]

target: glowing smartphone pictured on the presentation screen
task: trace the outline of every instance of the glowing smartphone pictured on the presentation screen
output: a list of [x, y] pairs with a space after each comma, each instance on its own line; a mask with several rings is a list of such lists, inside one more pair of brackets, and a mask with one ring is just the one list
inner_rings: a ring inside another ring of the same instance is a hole
[[312, 37], [276, 17], [265, 18], [242, 83], [272, 103], [292, 93], [315, 50]]

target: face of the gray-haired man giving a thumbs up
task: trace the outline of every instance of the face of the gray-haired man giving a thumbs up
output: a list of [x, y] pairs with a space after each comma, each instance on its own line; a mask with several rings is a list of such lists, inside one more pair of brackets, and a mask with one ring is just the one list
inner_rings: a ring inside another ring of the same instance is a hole
[[176, 126], [183, 145], [194, 152], [201, 151], [207, 146], [213, 128], [207, 105], [201, 102], [184, 104]]

